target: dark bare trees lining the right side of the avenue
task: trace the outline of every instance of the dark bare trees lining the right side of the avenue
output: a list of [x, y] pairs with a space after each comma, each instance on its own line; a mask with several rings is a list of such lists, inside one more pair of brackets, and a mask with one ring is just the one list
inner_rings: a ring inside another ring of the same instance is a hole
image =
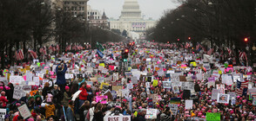
[[[256, 39], [255, 0], [179, 0], [181, 5], [165, 12], [147, 38], [161, 42], [209, 40], [221, 47], [245, 48], [244, 38]], [[253, 45], [253, 44], [251, 44]]]

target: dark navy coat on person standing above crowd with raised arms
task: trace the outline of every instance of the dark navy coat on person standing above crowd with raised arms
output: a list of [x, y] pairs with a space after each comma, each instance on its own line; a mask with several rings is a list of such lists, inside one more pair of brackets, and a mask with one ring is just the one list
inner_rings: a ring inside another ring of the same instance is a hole
[[66, 80], [65, 80], [65, 73], [67, 71], [67, 65], [64, 64], [64, 69], [62, 71], [59, 71], [58, 70], [58, 66], [60, 64], [57, 65], [56, 67], [56, 73], [57, 73], [57, 81], [56, 81], [56, 84], [57, 85], [64, 85], [66, 84]]

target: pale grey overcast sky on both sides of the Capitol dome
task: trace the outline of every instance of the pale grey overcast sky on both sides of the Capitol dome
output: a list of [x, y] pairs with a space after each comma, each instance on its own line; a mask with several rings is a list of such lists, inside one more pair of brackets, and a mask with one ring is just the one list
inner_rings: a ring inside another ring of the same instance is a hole
[[[165, 10], [175, 9], [179, 6], [175, 0], [138, 0], [140, 10], [145, 18], [152, 17], [158, 20]], [[106, 16], [118, 18], [125, 0], [89, 0], [92, 10], [105, 11]]]

